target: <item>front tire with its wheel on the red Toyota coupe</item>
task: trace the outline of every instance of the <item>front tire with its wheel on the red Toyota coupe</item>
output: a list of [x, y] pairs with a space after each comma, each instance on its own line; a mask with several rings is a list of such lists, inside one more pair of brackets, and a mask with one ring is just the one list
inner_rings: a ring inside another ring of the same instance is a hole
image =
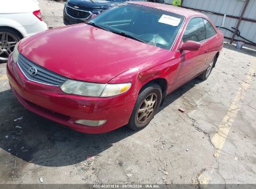
[[127, 126], [133, 131], [138, 131], [148, 126], [158, 111], [161, 99], [162, 89], [158, 84], [150, 83], [145, 85], [138, 95]]

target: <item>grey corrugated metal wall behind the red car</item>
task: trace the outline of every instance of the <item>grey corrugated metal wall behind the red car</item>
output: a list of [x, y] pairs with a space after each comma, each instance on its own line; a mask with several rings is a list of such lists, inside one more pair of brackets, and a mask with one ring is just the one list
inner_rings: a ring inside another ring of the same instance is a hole
[[[171, 0], [166, 0], [167, 3], [171, 3]], [[242, 13], [244, 7], [244, 0], [183, 0], [184, 7], [191, 7], [194, 9], [200, 9], [204, 11], [217, 12], [220, 14], [227, 14], [230, 16], [239, 17]], [[223, 16], [218, 16], [216, 14], [209, 14], [204, 12], [210, 19], [214, 22], [215, 25], [222, 25]], [[250, 0], [249, 5], [244, 14], [245, 18], [256, 19], [256, 0]], [[231, 17], [225, 18], [224, 27], [232, 29], [236, 27], [238, 19], [233, 19]], [[224, 32], [225, 37], [232, 37], [233, 33], [225, 29], [220, 29]], [[240, 35], [256, 43], [256, 23], [249, 21], [241, 21], [240, 26]], [[239, 39], [239, 37], [235, 37]], [[242, 39], [241, 39], [242, 40]]]

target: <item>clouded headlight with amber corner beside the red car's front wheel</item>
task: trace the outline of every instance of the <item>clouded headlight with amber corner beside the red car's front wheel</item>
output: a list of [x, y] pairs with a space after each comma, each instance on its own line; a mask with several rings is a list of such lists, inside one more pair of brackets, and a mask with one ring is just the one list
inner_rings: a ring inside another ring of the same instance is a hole
[[78, 94], [82, 96], [109, 97], [125, 93], [131, 87], [131, 83], [100, 84], [83, 81], [67, 80], [60, 89], [64, 93]]

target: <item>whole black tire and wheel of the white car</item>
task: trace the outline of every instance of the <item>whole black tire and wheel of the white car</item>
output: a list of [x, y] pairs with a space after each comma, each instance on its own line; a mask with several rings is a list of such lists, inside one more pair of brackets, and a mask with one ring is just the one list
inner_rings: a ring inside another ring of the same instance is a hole
[[21, 39], [21, 34], [12, 29], [0, 29], [0, 63], [7, 62], [10, 53], [14, 50], [14, 46]]

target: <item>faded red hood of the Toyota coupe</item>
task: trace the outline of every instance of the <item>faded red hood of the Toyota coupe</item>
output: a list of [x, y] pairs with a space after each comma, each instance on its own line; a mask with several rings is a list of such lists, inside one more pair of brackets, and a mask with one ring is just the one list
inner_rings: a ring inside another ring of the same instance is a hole
[[22, 55], [48, 70], [97, 83], [107, 83], [136, 65], [170, 53], [87, 24], [32, 35], [18, 48]]

